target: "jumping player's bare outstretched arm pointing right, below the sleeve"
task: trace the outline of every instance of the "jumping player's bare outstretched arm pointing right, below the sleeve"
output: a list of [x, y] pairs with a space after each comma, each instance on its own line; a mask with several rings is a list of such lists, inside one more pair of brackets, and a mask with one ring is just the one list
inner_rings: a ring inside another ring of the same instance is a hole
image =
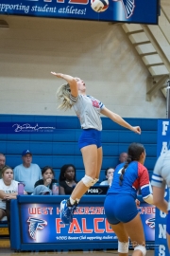
[[139, 135], [141, 134], [140, 126], [131, 126], [126, 120], [122, 119], [119, 115], [113, 113], [108, 108], [103, 107], [101, 109], [100, 113], [103, 114], [104, 116], [108, 117], [112, 121], [118, 123], [119, 125], [131, 130], [132, 132], [139, 134]]

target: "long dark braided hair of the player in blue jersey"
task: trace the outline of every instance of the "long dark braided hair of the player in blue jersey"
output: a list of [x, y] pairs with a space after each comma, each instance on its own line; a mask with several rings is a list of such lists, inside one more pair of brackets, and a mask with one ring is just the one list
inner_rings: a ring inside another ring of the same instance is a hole
[[125, 165], [122, 169], [121, 175], [119, 177], [120, 181], [119, 184], [122, 185], [122, 182], [124, 180], [124, 174], [127, 169], [127, 166], [132, 161], [139, 161], [140, 155], [144, 152], [144, 145], [140, 143], [131, 143], [127, 150], [127, 161], [125, 162]]

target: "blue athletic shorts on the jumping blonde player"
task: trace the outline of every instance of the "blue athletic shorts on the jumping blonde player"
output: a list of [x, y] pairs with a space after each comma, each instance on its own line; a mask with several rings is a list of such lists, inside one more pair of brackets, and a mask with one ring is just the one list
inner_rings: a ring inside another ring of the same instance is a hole
[[78, 147], [82, 149], [89, 145], [96, 145], [101, 147], [101, 131], [95, 129], [84, 129], [78, 139]]

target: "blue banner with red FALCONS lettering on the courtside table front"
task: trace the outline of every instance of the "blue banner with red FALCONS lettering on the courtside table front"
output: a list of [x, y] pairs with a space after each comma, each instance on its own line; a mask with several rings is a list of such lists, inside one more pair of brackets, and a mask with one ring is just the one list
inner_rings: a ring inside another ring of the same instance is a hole
[[[22, 243], [117, 242], [110, 229], [103, 203], [81, 204], [73, 223], [65, 226], [59, 218], [59, 204], [21, 204]], [[146, 241], [155, 239], [155, 207], [143, 204], [141, 213]]]

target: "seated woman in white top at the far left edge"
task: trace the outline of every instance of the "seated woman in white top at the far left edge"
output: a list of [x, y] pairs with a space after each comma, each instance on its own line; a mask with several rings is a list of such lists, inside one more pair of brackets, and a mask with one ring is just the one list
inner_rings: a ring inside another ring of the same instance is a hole
[[6, 200], [15, 199], [18, 194], [18, 183], [18, 181], [13, 180], [12, 169], [8, 166], [5, 167], [0, 179], [0, 220], [7, 216]]

